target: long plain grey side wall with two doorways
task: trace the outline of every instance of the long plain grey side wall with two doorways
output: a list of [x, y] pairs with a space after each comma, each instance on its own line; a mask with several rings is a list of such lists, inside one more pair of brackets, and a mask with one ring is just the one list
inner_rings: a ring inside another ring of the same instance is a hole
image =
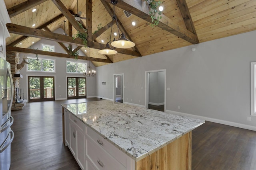
[[144, 105], [145, 71], [166, 69], [167, 111], [256, 130], [250, 115], [255, 37], [251, 31], [97, 67], [96, 95], [113, 99], [113, 74], [124, 73], [124, 102]]

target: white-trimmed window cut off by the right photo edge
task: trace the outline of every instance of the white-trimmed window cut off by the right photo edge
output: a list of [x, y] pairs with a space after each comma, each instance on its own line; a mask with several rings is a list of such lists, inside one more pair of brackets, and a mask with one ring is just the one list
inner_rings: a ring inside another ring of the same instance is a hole
[[251, 63], [251, 115], [256, 116], [256, 62]]

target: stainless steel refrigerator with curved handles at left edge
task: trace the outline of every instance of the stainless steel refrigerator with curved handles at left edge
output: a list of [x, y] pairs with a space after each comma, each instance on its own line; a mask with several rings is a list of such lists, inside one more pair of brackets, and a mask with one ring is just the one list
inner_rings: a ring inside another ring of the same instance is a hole
[[0, 58], [0, 170], [10, 169], [11, 143], [14, 137], [11, 130], [12, 99], [13, 81], [10, 63]]

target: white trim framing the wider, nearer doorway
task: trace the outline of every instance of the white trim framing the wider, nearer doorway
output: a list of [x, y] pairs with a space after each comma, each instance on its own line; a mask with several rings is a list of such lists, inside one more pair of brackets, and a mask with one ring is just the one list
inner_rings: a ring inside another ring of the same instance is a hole
[[148, 101], [148, 98], [149, 98], [149, 92], [148, 92], [148, 85], [149, 85], [149, 73], [150, 72], [164, 72], [164, 111], [166, 111], [166, 69], [162, 69], [162, 70], [150, 70], [150, 71], [145, 71], [145, 108], [148, 107], [148, 104], [149, 104], [149, 101]]

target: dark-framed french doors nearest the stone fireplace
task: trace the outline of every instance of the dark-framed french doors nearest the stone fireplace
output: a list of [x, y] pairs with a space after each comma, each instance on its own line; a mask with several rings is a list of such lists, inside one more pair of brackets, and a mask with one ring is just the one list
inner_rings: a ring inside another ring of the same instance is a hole
[[54, 77], [28, 76], [28, 102], [43, 102], [55, 100]]

